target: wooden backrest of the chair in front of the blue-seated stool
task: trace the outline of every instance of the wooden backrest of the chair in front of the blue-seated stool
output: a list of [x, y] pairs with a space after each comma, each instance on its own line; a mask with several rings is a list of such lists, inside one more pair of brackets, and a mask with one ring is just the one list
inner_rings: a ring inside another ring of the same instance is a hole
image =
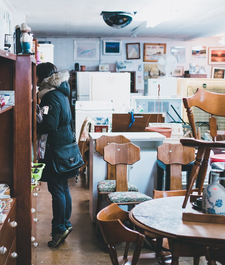
[[157, 159], [170, 165], [170, 190], [181, 190], [182, 165], [195, 160], [195, 148], [181, 143], [163, 143], [157, 147]]

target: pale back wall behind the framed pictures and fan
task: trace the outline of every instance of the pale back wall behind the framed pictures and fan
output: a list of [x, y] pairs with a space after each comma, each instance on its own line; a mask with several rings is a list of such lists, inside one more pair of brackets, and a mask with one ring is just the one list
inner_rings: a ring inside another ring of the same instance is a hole
[[[144, 64], [149, 62], [143, 62], [143, 50], [144, 43], [166, 43], [166, 53], [170, 54], [170, 48], [174, 46], [185, 46], [186, 47], [186, 60], [184, 64], [178, 64], [183, 66], [184, 71], [189, 70], [190, 63], [196, 63], [199, 66], [204, 66], [207, 73], [207, 78], [211, 78], [211, 65], [208, 65], [208, 47], [224, 47], [219, 45], [220, 38], [199, 38], [192, 41], [176, 41], [173, 39], [163, 38], [121, 38], [122, 39], [122, 54], [121, 55], [103, 55], [102, 46], [103, 39], [100, 40], [100, 60], [99, 61], [74, 61], [73, 59], [73, 48], [74, 40], [76, 38], [38, 38], [39, 41], [51, 41], [54, 45], [54, 64], [58, 70], [74, 70], [74, 64], [86, 65], [86, 71], [98, 71], [99, 64], [110, 64], [110, 70], [116, 70], [116, 61], [126, 60], [126, 43], [140, 42], [140, 54], [141, 58], [134, 61], [134, 71], [136, 71], [136, 89], [144, 89]], [[118, 39], [118, 38], [111, 38]], [[191, 47], [202, 45], [206, 46], [206, 58], [191, 59]], [[138, 71], [138, 66], [141, 64], [141, 71]], [[198, 70], [198, 67], [196, 67]], [[138, 78], [140, 76], [140, 78]], [[139, 83], [140, 82], [140, 83]], [[141, 91], [139, 91], [141, 92]]]

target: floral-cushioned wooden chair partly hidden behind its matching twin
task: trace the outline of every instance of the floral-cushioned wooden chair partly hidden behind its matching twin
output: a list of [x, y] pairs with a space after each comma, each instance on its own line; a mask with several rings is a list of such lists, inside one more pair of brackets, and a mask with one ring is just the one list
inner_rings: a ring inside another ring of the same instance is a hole
[[[103, 155], [103, 148], [112, 142], [118, 144], [124, 144], [124, 143], [129, 143], [131, 141], [130, 139], [126, 138], [123, 135], [116, 135], [116, 136], [102, 135], [101, 137], [96, 139], [95, 150]], [[115, 191], [116, 191], [116, 166], [107, 163], [107, 177], [106, 179], [99, 181], [97, 184], [98, 201], [97, 201], [95, 214], [98, 214], [98, 212], [101, 210], [103, 195], [108, 195], [110, 192], [115, 192]], [[128, 182], [128, 191], [136, 192], [138, 191], [138, 188], [131, 182]]]

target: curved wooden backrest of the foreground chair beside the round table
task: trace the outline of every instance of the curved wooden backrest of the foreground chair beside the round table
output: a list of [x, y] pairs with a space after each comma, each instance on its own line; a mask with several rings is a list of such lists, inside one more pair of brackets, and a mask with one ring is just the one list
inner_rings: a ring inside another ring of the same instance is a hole
[[128, 212], [122, 210], [116, 203], [113, 203], [102, 209], [97, 214], [96, 218], [107, 244], [112, 264], [119, 264], [115, 244], [121, 242], [126, 242], [124, 252], [125, 258], [128, 255], [130, 242], [135, 244], [132, 264], [137, 264], [145, 236], [137, 231], [129, 229], [123, 224], [125, 221], [129, 221]]

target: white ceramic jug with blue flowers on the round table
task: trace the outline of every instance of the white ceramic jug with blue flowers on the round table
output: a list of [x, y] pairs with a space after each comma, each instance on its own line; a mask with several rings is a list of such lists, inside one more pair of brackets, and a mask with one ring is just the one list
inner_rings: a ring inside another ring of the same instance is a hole
[[211, 184], [205, 187], [202, 194], [202, 213], [225, 215], [225, 188], [219, 183], [220, 173], [212, 172]]

